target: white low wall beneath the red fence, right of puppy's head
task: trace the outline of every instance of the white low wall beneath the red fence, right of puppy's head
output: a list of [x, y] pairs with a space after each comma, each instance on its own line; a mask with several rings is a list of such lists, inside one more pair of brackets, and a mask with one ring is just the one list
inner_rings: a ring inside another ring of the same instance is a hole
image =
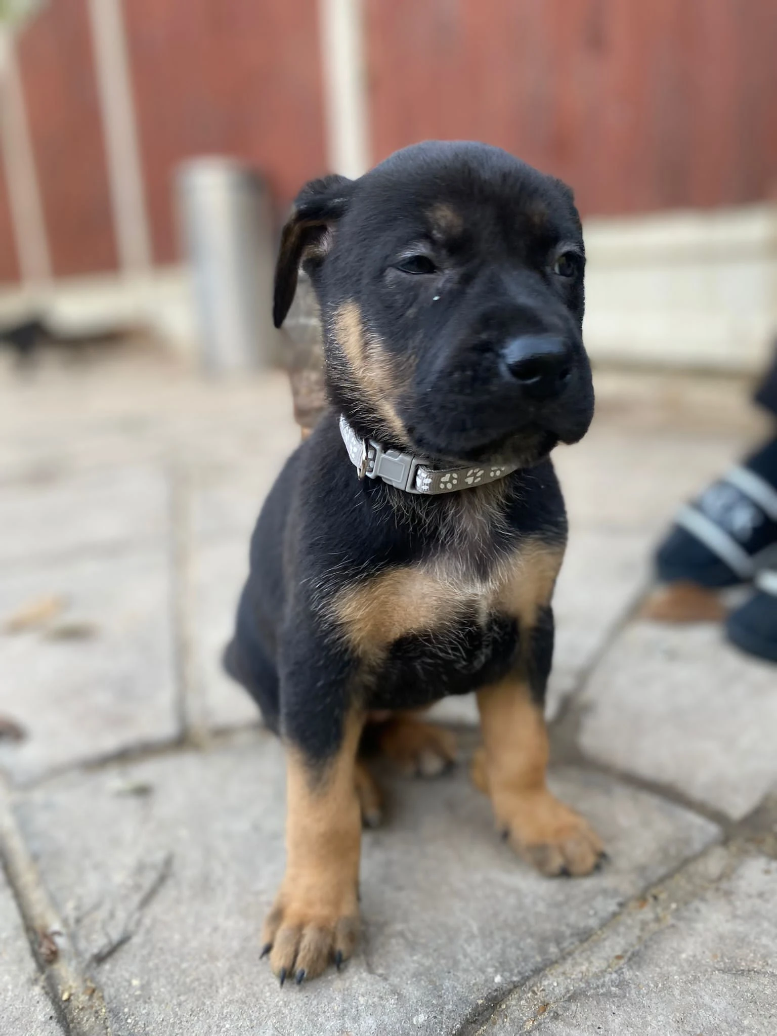
[[777, 335], [777, 204], [593, 219], [585, 344], [602, 363], [754, 372]]

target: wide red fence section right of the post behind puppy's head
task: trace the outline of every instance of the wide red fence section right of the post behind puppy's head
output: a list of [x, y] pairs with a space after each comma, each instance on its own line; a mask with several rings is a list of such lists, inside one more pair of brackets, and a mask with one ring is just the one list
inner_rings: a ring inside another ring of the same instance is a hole
[[367, 0], [376, 160], [498, 144], [586, 213], [777, 194], [775, 0]]

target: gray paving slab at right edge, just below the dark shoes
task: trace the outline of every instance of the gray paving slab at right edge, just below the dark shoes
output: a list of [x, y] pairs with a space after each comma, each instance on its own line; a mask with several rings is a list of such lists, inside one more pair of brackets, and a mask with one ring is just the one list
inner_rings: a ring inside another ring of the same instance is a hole
[[715, 625], [637, 622], [592, 674], [579, 743], [592, 758], [738, 819], [777, 783], [777, 669]]

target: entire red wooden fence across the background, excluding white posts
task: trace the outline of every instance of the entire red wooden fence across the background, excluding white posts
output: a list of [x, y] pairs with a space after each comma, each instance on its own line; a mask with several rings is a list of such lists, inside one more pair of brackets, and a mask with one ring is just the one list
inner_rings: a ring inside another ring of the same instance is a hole
[[[374, 161], [486, 140], [563, 176], [585, 214], [777, 196], [775, 0], [363, 0]], [[228, 153], [279, 206], [325, 170], [317, 0], [124, 0], [154, 260], [172, 174]], [[57, 276], [116, 246], [86, 0], [50, 0], [20, 63]], [[0, 175], [0, 280], [18, 264]]]

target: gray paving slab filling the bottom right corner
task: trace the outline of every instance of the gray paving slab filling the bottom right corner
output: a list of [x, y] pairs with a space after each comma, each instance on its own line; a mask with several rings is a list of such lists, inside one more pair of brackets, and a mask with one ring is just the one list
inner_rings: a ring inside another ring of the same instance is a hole
[[644, 945], [536, 1024], [500, 1011], [508, 1036], [729, 1036], [777, 1032], [777, 863], [745, 861]]

